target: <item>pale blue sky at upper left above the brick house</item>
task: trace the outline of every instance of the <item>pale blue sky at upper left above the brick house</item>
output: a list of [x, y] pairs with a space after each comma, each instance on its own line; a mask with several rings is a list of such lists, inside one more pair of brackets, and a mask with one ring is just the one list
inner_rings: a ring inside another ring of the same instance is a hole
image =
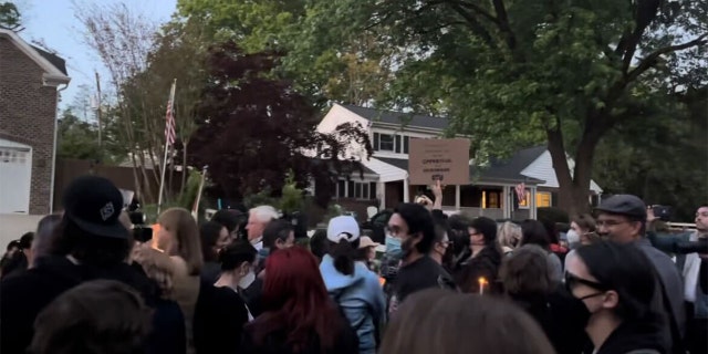
[[60, 108], [66, 108], [82, 95], [81, 85], [95, 92], [95, 72], [102, 76], [101, 85], [108, 85], [108, 73], [97, 54], [84, 44], [84, 30], [74, 17], [75, 6], [125, 3], [136, 13], [158, 23], [166, 22], [175, 12], [177, 0], [14, 0], [21, 13], [24, 30], [20, 37], [27, 42], [42, 41], [50, 51], [66, 61], [71, 83], [61, 92]]

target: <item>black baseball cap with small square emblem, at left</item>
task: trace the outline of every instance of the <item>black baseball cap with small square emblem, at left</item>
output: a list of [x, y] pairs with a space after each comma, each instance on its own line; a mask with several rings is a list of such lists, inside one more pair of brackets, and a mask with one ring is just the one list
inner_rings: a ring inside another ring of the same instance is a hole
[[128, 238], [121, 223], [123, 195], [113, 183], [98, 176], [82, 176], [64, 190], [64, 217], [81, 230], [98, 237]]

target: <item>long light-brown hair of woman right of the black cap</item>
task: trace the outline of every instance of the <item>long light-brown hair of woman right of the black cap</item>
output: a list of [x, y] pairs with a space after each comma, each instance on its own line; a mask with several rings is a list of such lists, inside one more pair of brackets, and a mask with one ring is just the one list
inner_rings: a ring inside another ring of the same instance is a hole
[[187, 209], [170, 208], [157, 218], [157, 223], [171, 232], [177, 241], [175, 254], [187, 263], [187, 273], [198, 275], [204, 266], [201, 258], [201, 241], [199, 240], [199, 227]]

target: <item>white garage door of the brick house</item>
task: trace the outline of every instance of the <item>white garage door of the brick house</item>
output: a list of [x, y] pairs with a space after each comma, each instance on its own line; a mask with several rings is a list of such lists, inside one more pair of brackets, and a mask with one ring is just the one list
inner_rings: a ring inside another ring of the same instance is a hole
[[32, 148], [0, 139], [0, 214], [30, 212]]

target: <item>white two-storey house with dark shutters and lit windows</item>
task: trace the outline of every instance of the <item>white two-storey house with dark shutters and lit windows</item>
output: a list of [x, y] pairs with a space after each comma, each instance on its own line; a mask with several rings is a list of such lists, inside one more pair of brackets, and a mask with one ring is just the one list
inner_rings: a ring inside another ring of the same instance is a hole
[[[317, 131], [330, 133], [343, 123], [361, 124], [369, 134], [374, 154], [366, 159], [362, 146], [350, 147], [347, 154], [362, 160], [364, 173], [339, 180], [335, 196], [339, 202], [393, 208], [414, 200], [426, 188], [408, 183], [409, 142], [439, 137], [447, 128], [447, 118], [334, 104]], [[514, 187], [521, 184], [525, 186], [527, 198], [519, 202]], [[601, 192], [593, 181], [591, 194]], [[492, 158], [485, 168], [470, 164], [469, 185], [449, 186], [442, 192], [444, 211], [461, 210], [493, 219], [535, 218], [537, 208], [556, 202], [558, 180], [545, 146], [521, 149], [504, 159]]]

